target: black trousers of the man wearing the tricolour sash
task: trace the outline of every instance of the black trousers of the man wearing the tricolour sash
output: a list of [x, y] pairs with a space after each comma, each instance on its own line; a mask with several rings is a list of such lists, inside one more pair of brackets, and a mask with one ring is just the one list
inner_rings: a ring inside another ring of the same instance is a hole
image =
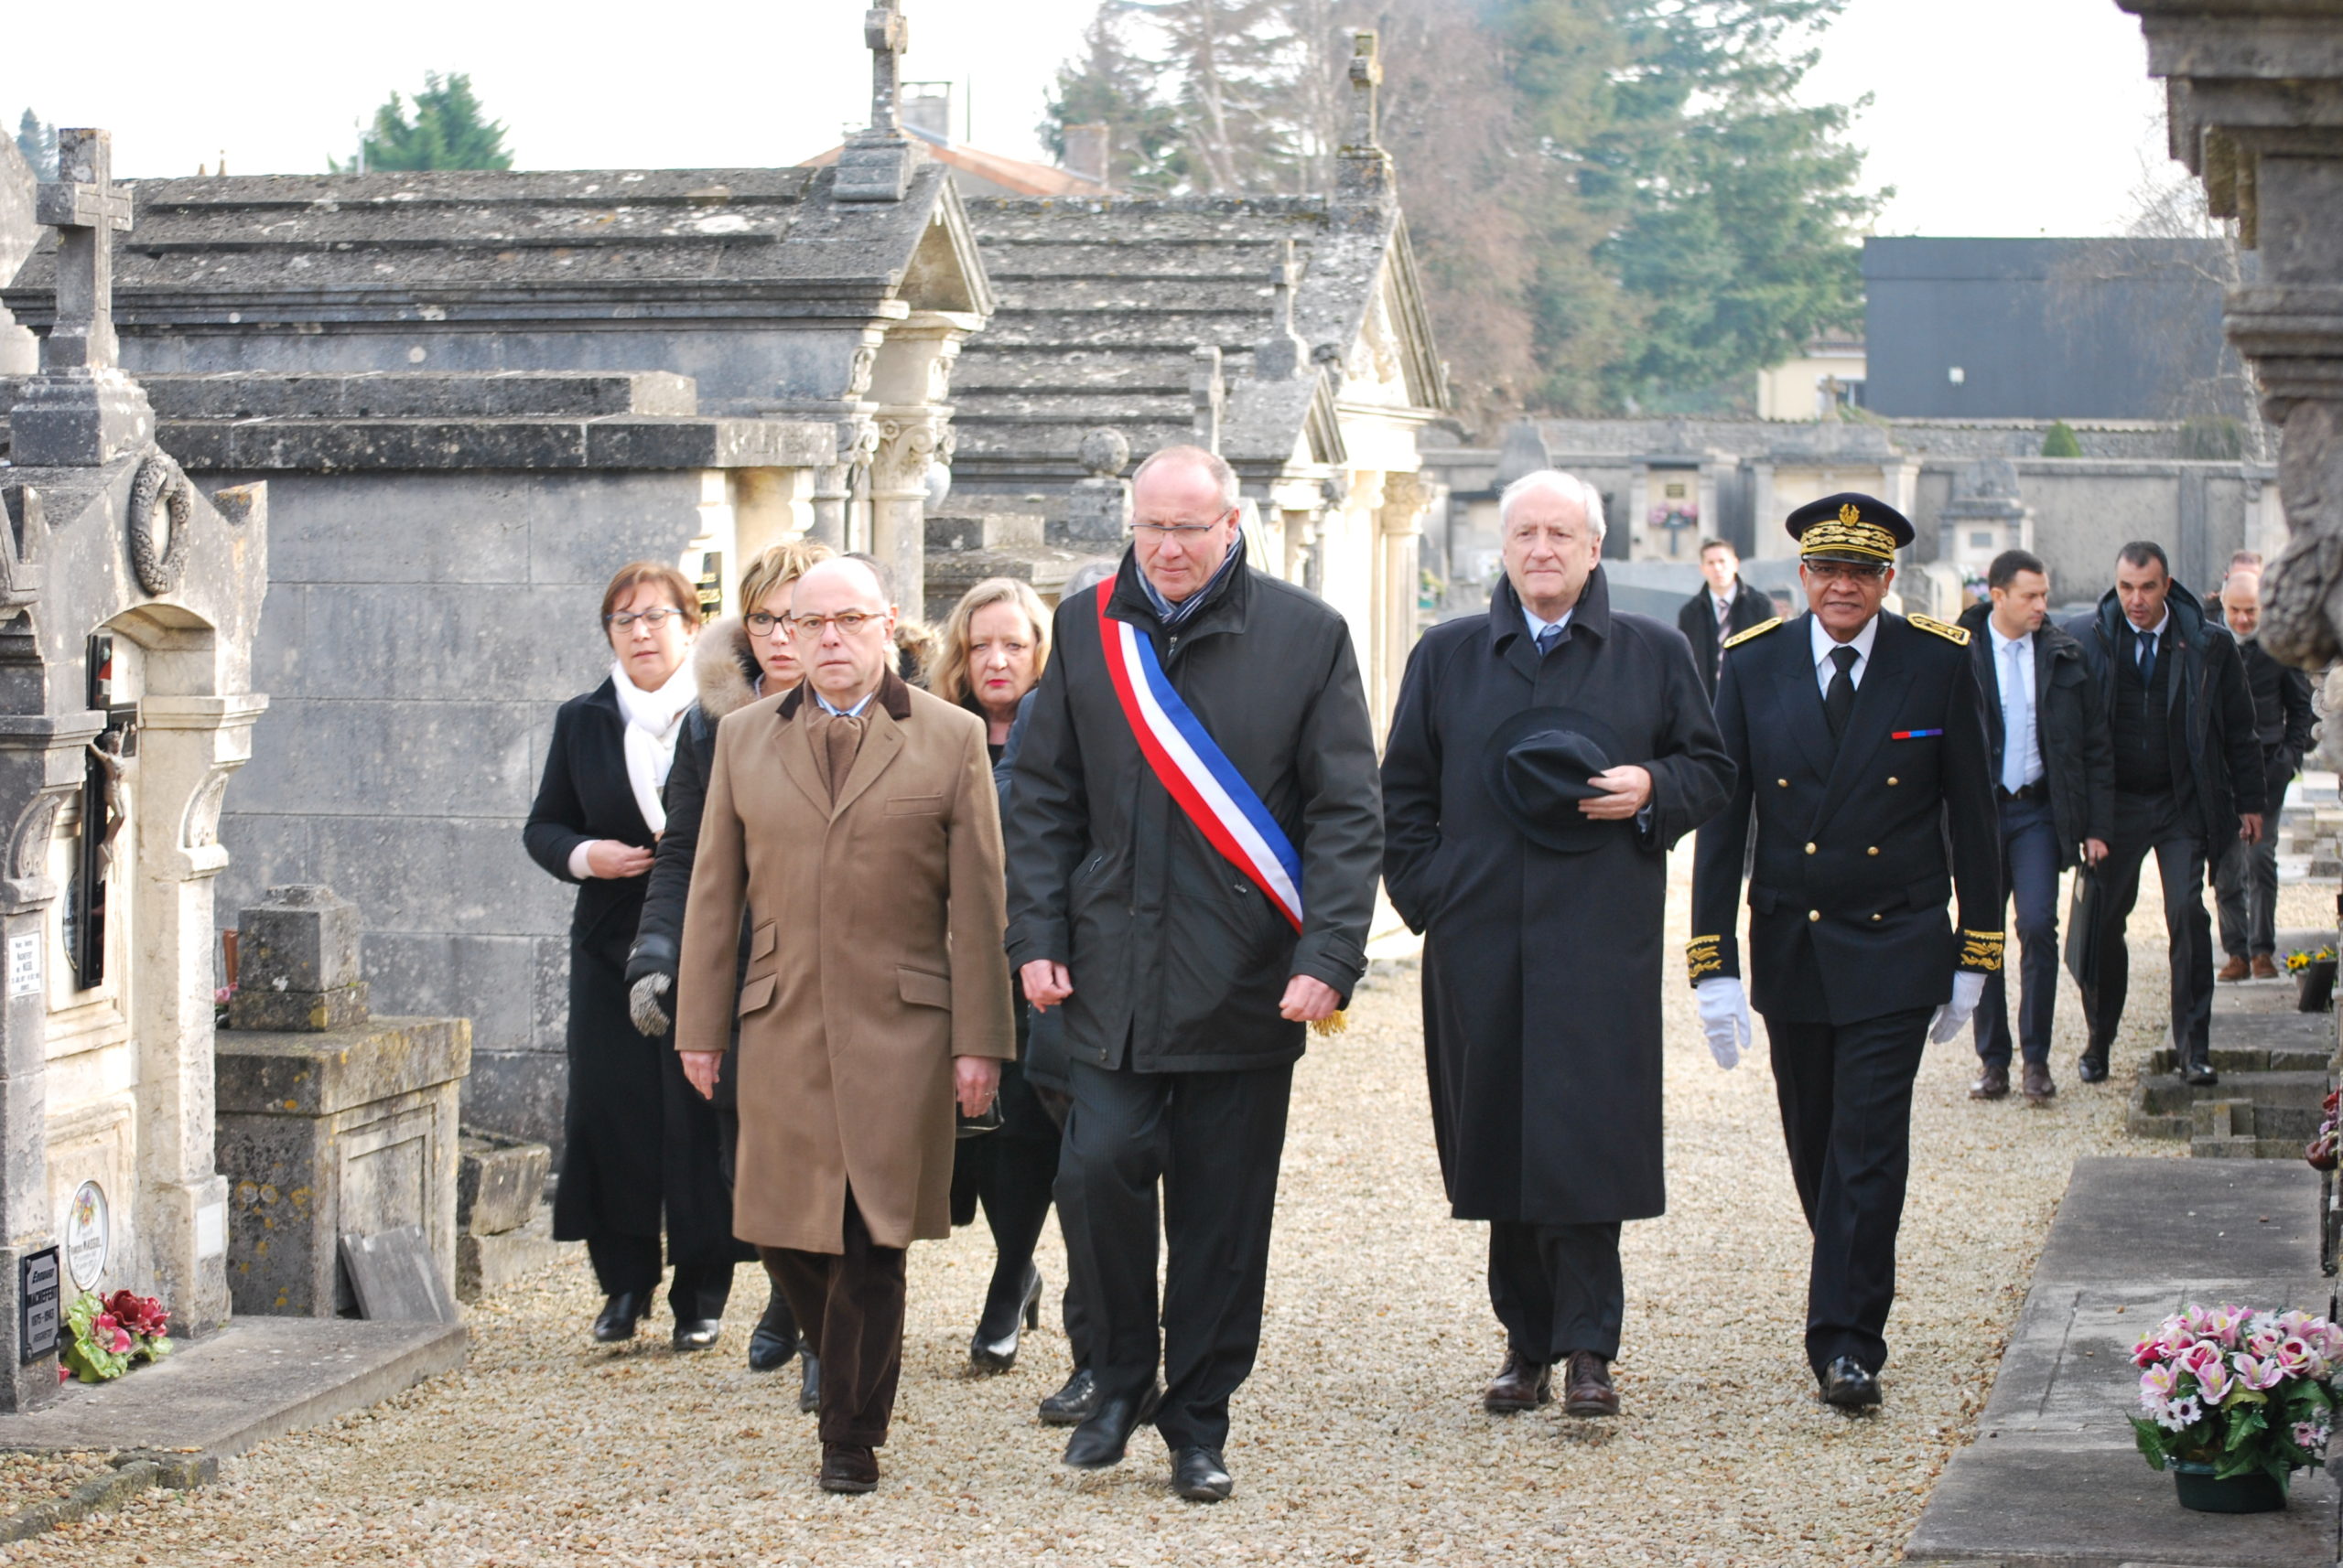
[[[1071, 1088], [1057, 1219], [1089, 1311], [1099, 1397], [1143, 1397], [1160, 1360], [1164, 1442], [1221, 1449], [1228, 1397], [1261, 1350], [1293, 1065], [1132, 1072], [1073, 1062]], [[1157, 1182], [1169, 1252], [1160, 1318]]]

